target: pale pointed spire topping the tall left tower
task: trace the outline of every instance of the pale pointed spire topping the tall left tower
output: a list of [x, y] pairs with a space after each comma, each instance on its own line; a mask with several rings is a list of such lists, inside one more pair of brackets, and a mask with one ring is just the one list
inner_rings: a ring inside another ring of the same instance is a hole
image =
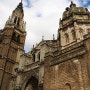
[[13, 10], [12, 15], [7, 20], [5, 27], [8, 27], [8, 25], [15, 25], [20, 30], [25, 31], [25, 22], [24, 22], [24, 11], [23, 11], [23, 0], [20, 0], [20, 3], [17, 5], [17, 7]]

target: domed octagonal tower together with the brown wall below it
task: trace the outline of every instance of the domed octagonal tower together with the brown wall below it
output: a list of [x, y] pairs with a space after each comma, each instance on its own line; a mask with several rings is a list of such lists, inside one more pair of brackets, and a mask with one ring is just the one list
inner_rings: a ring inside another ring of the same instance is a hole
[[90, 90], [89, 15], [73, 2], [66, 8], [58, 30], [61, 48], [45, 55], [44, 90]]

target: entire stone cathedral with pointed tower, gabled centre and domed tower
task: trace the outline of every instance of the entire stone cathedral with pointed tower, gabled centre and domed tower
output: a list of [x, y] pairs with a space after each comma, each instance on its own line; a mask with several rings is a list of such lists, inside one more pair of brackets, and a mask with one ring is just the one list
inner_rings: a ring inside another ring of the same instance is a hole
[[60, 19], [57, 39], [42, 39], [28, 53], [23, 50], [23, 16], [20, 3], [0, 31], [1, 90], [90, 90], [88, 9], [71, 2]]

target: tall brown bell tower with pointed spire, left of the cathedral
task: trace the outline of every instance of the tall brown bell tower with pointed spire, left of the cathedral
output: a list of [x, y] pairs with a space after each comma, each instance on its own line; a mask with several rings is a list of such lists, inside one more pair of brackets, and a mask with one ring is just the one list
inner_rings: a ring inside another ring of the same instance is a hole
[[26, 22], [23, 18], [21, 1], [6, 21], [4, 29], [0, 30], [0, 90], [10, 90], [11, 79], [15, 76], [14, 67], [24, 52]]

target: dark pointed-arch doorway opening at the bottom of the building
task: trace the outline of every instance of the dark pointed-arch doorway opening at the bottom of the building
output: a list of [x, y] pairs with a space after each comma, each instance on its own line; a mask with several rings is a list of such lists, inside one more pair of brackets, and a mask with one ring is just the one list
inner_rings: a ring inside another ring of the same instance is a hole
[[38, 90], [37, 78], [31, 77], [26, 83], [25, 90]]

